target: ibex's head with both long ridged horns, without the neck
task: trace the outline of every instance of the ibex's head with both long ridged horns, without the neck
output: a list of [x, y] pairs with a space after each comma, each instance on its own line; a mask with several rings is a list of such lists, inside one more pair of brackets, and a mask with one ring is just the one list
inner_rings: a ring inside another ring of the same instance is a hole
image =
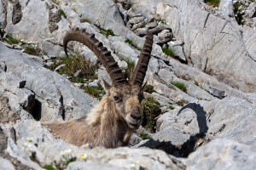
[[142, 123], [141, 101], [143, 100], [143, 80], [148, 69], [148, 62], [153, 44], [153, 35], [148, 32], [143, 45], [140, 58], [130, 80], [121, 71], [117, 62], [107, 48], [103, 47], [94, 34], [75, 28], [68, 31], [63, 40], [65, 53], [67, 54], [67, 42], [81, 42], [93, 51], [105, 66], [113, 82], [109, 85], [104, 81], [104, 88], [110, 101], [114, 117], [120, 122], [126, 122], [128, 127], [138, 128]]

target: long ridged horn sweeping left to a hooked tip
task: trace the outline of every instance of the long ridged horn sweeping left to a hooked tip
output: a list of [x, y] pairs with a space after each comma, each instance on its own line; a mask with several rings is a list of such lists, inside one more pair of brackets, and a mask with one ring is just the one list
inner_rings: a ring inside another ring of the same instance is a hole
[[79, 28], [74, 28], [71, 31], [67, 31], [64, 39], [63, 46], [64, 51], [67, 54], [67, 43], [70, 41], [77, 41], [83, 43], [85, 46], [90, 48], [90, 50], [96, 54], [98, 59], [100, 59], [102, 65], [108, 71], [108, 75], [110, 76], [113, 86], [119, 86], [124, 83], [127, 83], [125, 74], [119, 68], [117, 62], [113, 59], [111, 52], [108, 51], [106, 47], [103, 46], [102, 42], [99, 42], [95, 34], [90, 34], [86, 32], [84, 29], [79, 30]]

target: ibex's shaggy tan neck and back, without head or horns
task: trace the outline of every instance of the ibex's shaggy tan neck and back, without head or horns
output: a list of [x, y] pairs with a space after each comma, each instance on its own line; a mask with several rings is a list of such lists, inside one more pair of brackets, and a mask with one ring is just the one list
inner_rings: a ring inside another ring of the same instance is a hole
[[[64, 123], [46, 124], [57, 136], [75, 145], [90, 144], [116, 148], [128, 145], [132, 129], [114, 110], [108, 96], [103, 96], [101, 102], [94, 107], [90, 114], [77, 120]], [[67, 131], [60, 128], [68, 129]]]

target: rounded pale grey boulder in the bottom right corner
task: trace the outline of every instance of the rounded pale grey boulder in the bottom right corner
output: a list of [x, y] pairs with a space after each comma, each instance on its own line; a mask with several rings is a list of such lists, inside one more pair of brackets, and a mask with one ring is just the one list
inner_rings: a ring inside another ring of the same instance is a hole
[[246, 144], [215, 139], [189, 155], [187, 169], [248, 169], [256, 168], [256, 150]]

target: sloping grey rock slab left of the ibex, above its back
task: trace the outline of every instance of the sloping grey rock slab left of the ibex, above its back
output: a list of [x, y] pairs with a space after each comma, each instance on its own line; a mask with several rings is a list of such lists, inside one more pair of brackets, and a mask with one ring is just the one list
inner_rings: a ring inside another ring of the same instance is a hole
[[[7, 67], [4, 74], [12, 74], [18, 80], [22, 78], [26, 81], [24, 88], [35, 94], [36, 111], [33, 111], [33, 116], [37, 119], [49, 121], [65, 115], [69, 120], [84, 116], [96, 103], [90, 95], [74, 88], [66, 78], [26, 59], [26, 54], [9, 51], [2, 43], [0, 43], [0, 49], [2, 52], [0, 59], [4, 60]], [[7, 88], [11, 87], [13, 86], [7, 86]]]

